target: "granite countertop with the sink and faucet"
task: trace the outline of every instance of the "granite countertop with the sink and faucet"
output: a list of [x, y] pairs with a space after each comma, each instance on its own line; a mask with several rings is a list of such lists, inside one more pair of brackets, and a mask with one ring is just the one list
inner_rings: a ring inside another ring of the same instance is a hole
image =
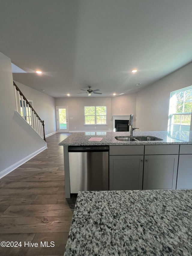
[[[119, 141], [115, 137], [130, 136], [130, 132], [75, 132], [59, 143], [59, 146], [91, 146], [91, 145], [163, 145], [163, 144], [192, 144], [192, 131], [134, 131], [136, 136], [152, 136], [163, 140], [156, 141]], [[102, 137], [101, 141], [88, 141], [91, 137]]]

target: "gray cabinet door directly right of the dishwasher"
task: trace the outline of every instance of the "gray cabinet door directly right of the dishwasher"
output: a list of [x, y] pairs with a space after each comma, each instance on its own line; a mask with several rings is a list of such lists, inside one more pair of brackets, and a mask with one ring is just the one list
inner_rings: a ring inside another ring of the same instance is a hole
[[110, 190], [138, 190], [143, 183], [143, 155], [110, 156]]

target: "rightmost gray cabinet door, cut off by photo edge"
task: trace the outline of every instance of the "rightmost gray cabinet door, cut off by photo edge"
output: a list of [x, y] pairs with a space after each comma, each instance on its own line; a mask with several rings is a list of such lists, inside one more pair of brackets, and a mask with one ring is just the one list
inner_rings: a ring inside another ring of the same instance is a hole
[[177, 189], [192, 189], [192, 155], [179, 155]]

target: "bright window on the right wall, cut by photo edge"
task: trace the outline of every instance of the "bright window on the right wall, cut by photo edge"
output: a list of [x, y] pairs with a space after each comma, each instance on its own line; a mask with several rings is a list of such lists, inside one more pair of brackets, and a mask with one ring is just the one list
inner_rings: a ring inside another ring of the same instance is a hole
[[168, 131], [189, 131], [192, 109], [192, 86], [171, 92]]

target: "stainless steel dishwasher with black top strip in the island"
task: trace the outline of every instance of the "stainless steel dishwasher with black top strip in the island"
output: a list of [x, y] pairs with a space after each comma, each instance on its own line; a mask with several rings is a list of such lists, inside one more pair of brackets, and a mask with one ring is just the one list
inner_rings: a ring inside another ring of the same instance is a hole
[[108, 146], [69, 146], [70, 193], [109, 190]]

